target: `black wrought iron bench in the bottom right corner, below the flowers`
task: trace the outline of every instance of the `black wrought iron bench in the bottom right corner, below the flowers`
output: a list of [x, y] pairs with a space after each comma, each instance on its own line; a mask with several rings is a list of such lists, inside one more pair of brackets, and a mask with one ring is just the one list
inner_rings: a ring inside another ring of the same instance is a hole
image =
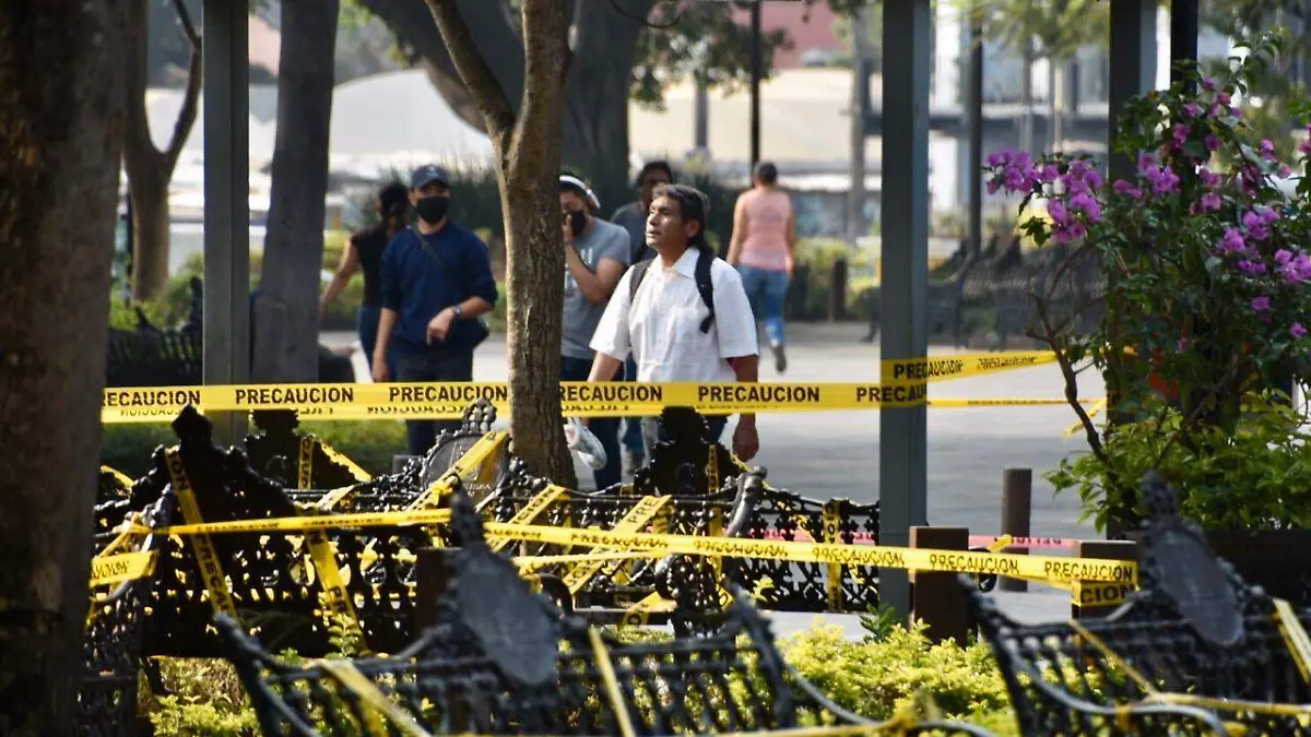
[[1159, 477], [1143, 492], [1141, 589], [1106, 619], [1019, 624], [971, 590], [1024, 734], [1311, 734], [1311, 615], [1217, 559]]

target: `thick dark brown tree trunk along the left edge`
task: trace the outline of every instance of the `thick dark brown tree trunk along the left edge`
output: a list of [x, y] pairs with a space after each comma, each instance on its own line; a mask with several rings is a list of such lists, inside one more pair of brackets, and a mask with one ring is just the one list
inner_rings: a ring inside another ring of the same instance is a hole
[[76, 733], [125, 0], [0, 3], [0, 733]]

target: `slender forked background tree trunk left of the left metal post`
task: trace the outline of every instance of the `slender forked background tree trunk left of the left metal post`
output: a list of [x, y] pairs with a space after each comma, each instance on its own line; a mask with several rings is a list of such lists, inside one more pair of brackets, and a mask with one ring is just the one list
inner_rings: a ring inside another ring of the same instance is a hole
[[173, 125], [168, 148], [160, 151], [151, 138], [151, 121], [146, 109], [146, 88], [149, 79], [147, 50], [151, 28], [149, 0], [128, 0], [127, 38], [130, 50], [125, 85], [127, 89], [127, 135], [123, 140], [123, 169], [127, 172], [128, 191], [132, 197], [132, 299], [155, 299], [168, 289], [169, 256], [169, 203], [168, 185], [182, 146], [195, 123], [201, 96], [201, 38], [182, 3], [174, 10], [182, 33], [191, 45], [186, 90]]

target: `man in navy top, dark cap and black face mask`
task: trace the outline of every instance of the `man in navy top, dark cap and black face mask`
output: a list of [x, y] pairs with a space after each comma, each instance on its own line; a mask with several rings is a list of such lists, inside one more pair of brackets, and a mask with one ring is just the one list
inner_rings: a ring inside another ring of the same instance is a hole
[[[479, 236], [446, 218], [451, 177], [435, 165], [410, 177], [418, 223], [397, 232], [383, 253], [383, 309], [374, 348], [374, 380], [387, 382], [395, 346], [399, 382], [471, 382], [473, 349], [486, 337], [481, 315], [497, 298], [492, 257]], [[458, 420], [408, 420], [410, 455], [423, 455]]]

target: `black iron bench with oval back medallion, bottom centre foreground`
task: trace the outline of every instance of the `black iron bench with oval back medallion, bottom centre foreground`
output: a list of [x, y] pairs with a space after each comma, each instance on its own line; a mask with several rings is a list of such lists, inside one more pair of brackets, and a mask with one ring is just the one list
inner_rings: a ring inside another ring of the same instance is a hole
[[[779, 654], [738, 594], [712, 637], [623, 644], [531, 593], [455, 498], [440, 622], [393, 657], [286, 662], [228, 619], [219, 627], [267, 736], [713, 734], [880, 725], [834, 706]], [[956, 724], [899, 723], [983, 734]]]

